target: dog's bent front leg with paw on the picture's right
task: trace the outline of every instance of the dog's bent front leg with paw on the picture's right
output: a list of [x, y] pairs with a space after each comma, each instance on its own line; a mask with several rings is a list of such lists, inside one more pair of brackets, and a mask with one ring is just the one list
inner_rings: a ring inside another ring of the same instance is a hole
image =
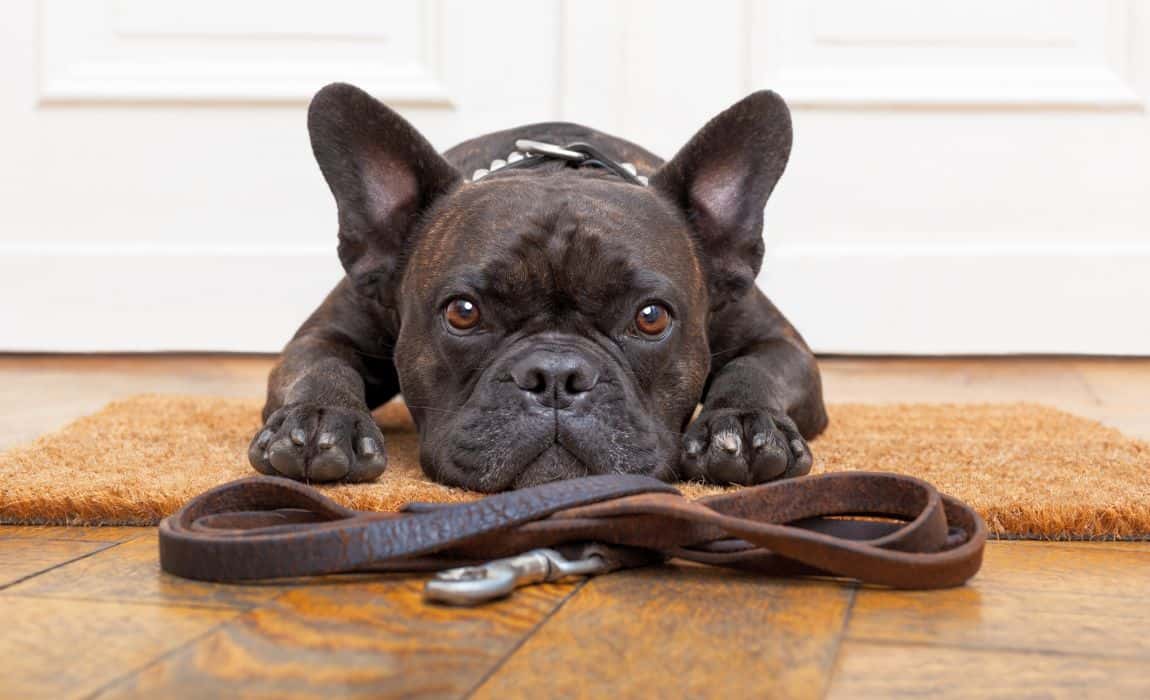
[[703, 411], [683, 436], [685, 478], [760, 484], [811, 469], [806, 440], [827, 425], [819, 367], [785, 318], [754, 294], [719, 320]]

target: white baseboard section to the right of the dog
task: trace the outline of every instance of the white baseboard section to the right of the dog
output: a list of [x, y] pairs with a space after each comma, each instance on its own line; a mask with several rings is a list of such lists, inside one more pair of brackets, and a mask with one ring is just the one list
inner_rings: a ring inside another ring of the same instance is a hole
[[1150, 245], [781, 245], [760, 285], [844, 354], [1150, 354]]

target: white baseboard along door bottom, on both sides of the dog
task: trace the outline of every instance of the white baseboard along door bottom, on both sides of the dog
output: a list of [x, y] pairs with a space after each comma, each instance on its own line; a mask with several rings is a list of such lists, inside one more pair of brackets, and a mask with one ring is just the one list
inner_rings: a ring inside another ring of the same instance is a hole
[[[340, 277], [327, 246], [3, 245], [0, 352], [275, 352]], [[1150, 355], [1147, 279], [1150, 244], [784, 243], [760, 284], [821, 353]]]

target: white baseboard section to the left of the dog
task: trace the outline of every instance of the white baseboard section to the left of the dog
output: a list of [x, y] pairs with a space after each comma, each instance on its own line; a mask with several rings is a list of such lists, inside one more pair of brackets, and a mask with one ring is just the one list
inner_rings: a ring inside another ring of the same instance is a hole
[[0, 352], [278, 352], [342, 276], [335, 246], [5, 245]]

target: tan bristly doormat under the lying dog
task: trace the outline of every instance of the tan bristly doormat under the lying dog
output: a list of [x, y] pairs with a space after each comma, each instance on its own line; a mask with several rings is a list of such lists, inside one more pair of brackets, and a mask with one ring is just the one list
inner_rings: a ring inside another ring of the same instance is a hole
[[[197, 493], [254, 471], [247, 443], [261, 401], [141, 395], [0, 455], [0, 522], [152, 524]], [[419, 469], [402, 403], [376, 414], [390, 466], [374, 484], [324, 487], [360, 509], [478, 494]], [[838, 405], [814, 441], [814, 472], [887, 470], [934, 483], [998, 536], [1150, 537], [1150, 444], [1032, 403]], [[697, 497], [722, 489], [684, 484]]]

